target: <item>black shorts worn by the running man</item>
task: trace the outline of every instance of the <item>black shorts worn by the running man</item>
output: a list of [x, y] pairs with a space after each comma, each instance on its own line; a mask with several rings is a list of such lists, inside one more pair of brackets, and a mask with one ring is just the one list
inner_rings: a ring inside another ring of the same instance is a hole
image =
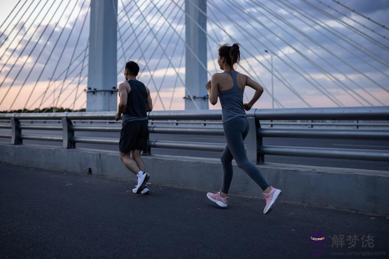
[[132, 121], [122, 126], [120, 132], [119, 150], [128, 153], [132, 150], [147, 148], [148, 121]]

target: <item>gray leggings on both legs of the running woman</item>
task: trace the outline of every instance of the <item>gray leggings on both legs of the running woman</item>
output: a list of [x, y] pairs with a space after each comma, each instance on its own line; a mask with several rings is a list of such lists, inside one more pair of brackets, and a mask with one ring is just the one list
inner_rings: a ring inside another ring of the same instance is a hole
[[246, 138], [249, 130], [248, 119], [243, 117], [234, 118], [223, 124], [224, 135], [227, 145], [223, 151], [220, 160], [223, 164], [223, 188], [224, 193], [228, 193], [232, 181], [232, 158], [240, 169], [245, 171], [261, 188], [266, 190], [269, 184], [258, 168], [248, 161], [243, 140]]

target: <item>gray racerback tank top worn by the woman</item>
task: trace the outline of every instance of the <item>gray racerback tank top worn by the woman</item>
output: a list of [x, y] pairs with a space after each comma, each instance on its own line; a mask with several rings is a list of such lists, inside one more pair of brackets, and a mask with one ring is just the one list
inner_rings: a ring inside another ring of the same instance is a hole
[[245, 117], [246, 112], [243, 107], [243, 91], [236, 81], [237, 71], [224, 71], [232, 77], [233, 86], [227, 91], [219, 91], [220, 104], [222, 105], [223, 124], [234, 118]]

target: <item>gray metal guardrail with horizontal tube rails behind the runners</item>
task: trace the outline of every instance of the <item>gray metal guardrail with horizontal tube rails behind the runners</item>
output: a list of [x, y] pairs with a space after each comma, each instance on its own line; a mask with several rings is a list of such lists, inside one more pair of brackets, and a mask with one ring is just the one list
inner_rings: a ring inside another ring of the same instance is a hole
[[[75, 148], [76, 143], [118, 144], [114, 138], [75, 137], [75, 131], [120, 132], [121, 126], [76, 124], [80, 120], [113, 120], [114, 112], [75, 112], [75, 113], [13, 113], [0, 114], [0, 121], [11, 121], [11, 125], [2, 123], [0, 128], [11, 128], [12, 134], [0, 134], [0, 138], [11, 138], [13, 144], [21, 144], [23, 139], [62, 141], [64, 148]], [[342, 107], [342, 108], [297, 108], [297, 109], [254, 109], [247, 112], [250, 121], [250, 133], [245, 144], [249, 159], [258, 163], [264, 162], [265, 155], [287, 155], [341, 159], [361, 159], [373, 161], [389, 161], [389, 152], [385, 150], [334, 149], [313, 147], [285, 147], [263, 145], [263, 138], [335, 138], [335, 139], [372, 139], [389, 140], [389, 131], [385, 130], [338, 130], [338, 129], [275, 129], [261, 128], [261, 120], [373, 120], [388, 121], [389, 106], [377, 107]], [[153, 111], [148, 113], [153, 121], [161, 120], [221, 120], [220, 110], [185, 110], [185, 111]], [[62, 125], [25, 124], [20, 121], [62, 121]], [[174, 122], [174, 121], [173, 121]], [[220, 123], [220, 122], [218, 122]], [[276, 122], [271, 122], [276, 123]], [[300, 123], [300, 122], [299, 122]], [[115, 125], [116, 124], [116, 125]], [[307, 124], [313, 124], [307, 123]], [[63, 137], [23, 135], [22, 130], [62, 130]], [[149, 125], [149, 133], [154, 134], [191, 134], [223, 136], [220, 127], [178, 127]], [[170, 148], [186, 150], [202, 150], [221, 152], [225, 144], [148, 140], [148, 148], [144, 154], [150, 154], [151, 148]]]

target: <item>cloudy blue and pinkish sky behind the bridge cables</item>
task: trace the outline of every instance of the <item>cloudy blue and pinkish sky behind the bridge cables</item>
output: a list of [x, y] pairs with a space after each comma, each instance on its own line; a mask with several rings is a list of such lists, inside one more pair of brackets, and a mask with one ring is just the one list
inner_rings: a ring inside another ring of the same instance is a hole
[[[21, 0], [11, 13], [17, 3], [1, 0], [0, 110], [85, 108], [89, 0]], [[238, 42], [235, 69], [265, 88], [254, 108], [272, 107], [272, 68], [275, 108], [389, 105], [389, 31], [380, 26], [389, 26], [389, 1], [340, 3], [349, 9], [333, 0], [208, 0], [201, 66], [209, 79], [221, 72], [219, 46]], [[138, 62], [156, 110], [185, 108], [184, 6], [118, 0], [118, 84], [125, 61]]]

